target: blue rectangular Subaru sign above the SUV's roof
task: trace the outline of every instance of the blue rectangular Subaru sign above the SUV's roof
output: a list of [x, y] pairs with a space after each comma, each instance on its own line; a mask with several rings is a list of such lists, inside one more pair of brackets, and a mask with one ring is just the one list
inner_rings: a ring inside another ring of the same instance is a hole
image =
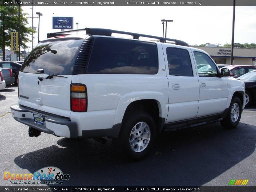
[[53, 29], [73, 29], [73, 17], [53, 17]]

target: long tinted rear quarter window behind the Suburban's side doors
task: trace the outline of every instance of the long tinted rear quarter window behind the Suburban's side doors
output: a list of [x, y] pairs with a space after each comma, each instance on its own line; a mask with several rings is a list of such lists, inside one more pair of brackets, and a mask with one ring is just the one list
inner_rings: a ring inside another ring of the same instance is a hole
[[97, 38], [87, 73], [156, 74], [157, 45], [129, 39]]

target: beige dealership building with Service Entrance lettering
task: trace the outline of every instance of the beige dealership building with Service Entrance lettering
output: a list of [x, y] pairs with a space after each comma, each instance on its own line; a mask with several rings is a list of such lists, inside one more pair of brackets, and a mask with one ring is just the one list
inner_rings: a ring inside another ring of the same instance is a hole
[[[196, 47], [206, 51], [216, 64], [230, 65], [231, 48]], [[256, 65], [256, 49], [234, 48], [233, 65]]]

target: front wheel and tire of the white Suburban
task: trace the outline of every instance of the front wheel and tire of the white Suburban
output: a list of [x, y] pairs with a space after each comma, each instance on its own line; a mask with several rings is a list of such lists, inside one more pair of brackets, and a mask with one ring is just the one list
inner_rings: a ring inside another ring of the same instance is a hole
[[225, 119], [221, 121], [221, 125], [226, 129], [235, 128], [242, 114], [242, 103], [238, 97], [234, 97], [230, 103], [229, 111]]

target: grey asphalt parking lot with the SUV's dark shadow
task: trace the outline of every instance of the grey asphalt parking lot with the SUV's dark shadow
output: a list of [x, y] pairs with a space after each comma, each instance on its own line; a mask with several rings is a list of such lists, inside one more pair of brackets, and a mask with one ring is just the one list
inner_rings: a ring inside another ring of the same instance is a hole
[[32, 186], [12, 185], [3, 174], [48, 166], [70, 174], [63, 186], [228, 186], [231, 179], [256, 186], [256, 106], [243, 111], [233, 130], [214, 123], [162, 133], [149, 157], [131, 163], [118, 157], [111, 139], [30, 138], [28, 127], [10, 113], [17, 92], [17, 86], [0, 91], [0, 186]]

